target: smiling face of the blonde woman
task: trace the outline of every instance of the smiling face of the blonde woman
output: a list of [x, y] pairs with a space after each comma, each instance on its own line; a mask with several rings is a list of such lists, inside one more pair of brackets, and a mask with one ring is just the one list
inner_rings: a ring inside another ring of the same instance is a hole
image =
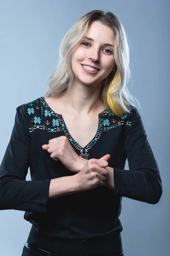
[[[72, 53], [71, 67], [74, 72], [74, 81], [86, 85], [101, 85], [103, 79], [113, 71], [115, 64], [114, 33], [110, 27], [94, 21], [85, 36], [88, 38], [82, 38]], [[86, 71], [82, 64], [95, 66], [99, 70], [97, 72]]]

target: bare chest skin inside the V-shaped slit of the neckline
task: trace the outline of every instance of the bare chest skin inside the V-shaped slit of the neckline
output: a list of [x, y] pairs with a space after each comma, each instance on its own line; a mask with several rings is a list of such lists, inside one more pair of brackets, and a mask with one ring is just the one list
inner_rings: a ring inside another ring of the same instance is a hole
[[65, 126], [71, 137], [84, 148], [93, 140], [99, 127], [99, 116], [83, 116], [74, 118], [62, 115]]

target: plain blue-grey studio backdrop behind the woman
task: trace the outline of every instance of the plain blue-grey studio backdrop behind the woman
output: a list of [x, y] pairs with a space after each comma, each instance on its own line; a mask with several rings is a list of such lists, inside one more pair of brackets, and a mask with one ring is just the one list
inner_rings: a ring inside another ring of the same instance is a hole
[[[132, 72], [128, 88], [141, 104], [139, 113], [163, 183], [163, 194], [156, 205], [122, 198], [119, 218], [124, 253], [169, 255], [169, 1], [1, 0], [0, 161], [17, 106], [45, 95], [62, 37], [82, 15], [94, 9], [113, 12], [127, 32]], [[26, 179], [30, 180], [29, 170]], [[23, 215], [23, 211], [0, 211], [0, 255], [22, 254], [31, 228]]]

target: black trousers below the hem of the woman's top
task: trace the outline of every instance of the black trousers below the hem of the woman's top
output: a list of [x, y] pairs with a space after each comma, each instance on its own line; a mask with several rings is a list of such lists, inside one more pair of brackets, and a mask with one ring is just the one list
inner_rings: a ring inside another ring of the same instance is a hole
[[[22, 256], [124, 256], [121, 233], [91, 239], [52, 238], [37, 232], [32, 225], [28, 247], [23, 247]], [[47, 251], [37, 251], [35, 247]]]

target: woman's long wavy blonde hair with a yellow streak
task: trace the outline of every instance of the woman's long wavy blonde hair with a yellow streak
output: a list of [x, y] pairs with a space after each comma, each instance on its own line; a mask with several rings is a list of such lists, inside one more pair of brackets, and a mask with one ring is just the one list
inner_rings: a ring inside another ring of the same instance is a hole
[[[114, 71], [102, 81], [100, 96], [106, 106], [116, 116], [130, 114], [130, 108], [134, 107], [134, 98], [127, 89], [127, 82], [130, 79], [129, 45], [125, 29], [116, 15], [112, 12], [93, 10], [83, 15], [65, 34], [59, 49], [59, 63], [48, 78], [48, 88], [45, 97], [51, 97], [64, 93], [74, 79], [71, 68], [71, 55], [74, 49], [82, 40], [91, 23], [100, 21], [110, 27], [115, 35], [114, 39]], [[139, 104], [139, 102], [138, 102]], [[140, 104], [139, 104], [140, 106]]]

